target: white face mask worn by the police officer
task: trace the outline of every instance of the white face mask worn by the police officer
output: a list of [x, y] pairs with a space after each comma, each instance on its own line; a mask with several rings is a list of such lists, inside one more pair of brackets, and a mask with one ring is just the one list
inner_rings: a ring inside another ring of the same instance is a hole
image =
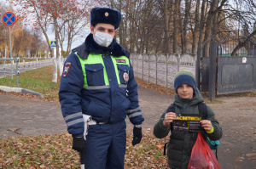
[[98, 45], [100, 45], [102, 47], [108, 47], [111, 44], [111, 42], [113, 41], [113, 36], [109, 35], [108, 33], [96, 31], [93, 39]]

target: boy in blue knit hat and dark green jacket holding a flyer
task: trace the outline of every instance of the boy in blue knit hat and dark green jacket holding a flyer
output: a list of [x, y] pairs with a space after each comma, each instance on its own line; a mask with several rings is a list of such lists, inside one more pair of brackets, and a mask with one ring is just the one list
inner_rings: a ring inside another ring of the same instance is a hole
[[[177, 93], [173, 102], [175, 113], [168, 112], [168, 109], [162, 113], [160, 120], [154, 125], [154, 136], [165, 138], [171, 131], [167, 146], [168, 167], [185, 169], [188, 168], [198, 132], [172, 130], [172, 121], [178, 114], [199, 114], [198, 104], [204, 100], [196, 88], [195, 76], [188, 70], [177, 72], [174, 76], [174, 87]], [[207, 106], [207, 119], [201, 120], [200, 123], [202, 136], [207, 136], [211, 140], [218, 140], [222, 137], [222, 129], [210, 107]]]

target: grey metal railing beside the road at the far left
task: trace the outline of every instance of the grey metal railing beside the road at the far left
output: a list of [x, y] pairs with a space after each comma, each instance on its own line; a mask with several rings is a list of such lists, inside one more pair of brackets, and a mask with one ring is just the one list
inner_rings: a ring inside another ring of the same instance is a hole
[[3, 64], [0, 64], [0, 78], [5, 76], [13, 78], [13, 75], [16, 75], [17, 87], [19, 87], [20, 72], [53, 64], [52, 59], [49, 58], [0, 58], [0, 60], [3, 60]]

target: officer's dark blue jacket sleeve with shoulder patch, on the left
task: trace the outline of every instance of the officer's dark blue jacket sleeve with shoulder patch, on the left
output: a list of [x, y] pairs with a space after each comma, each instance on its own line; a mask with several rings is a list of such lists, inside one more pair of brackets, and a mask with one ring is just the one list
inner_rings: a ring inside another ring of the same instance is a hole
[[63, 68], [59, 99], [67, 131], [73, 137], [82, 137], [84, 120], [81, 108], [81, 90], [84, 85], [84, 76], [78, 57], [71, 53]]

